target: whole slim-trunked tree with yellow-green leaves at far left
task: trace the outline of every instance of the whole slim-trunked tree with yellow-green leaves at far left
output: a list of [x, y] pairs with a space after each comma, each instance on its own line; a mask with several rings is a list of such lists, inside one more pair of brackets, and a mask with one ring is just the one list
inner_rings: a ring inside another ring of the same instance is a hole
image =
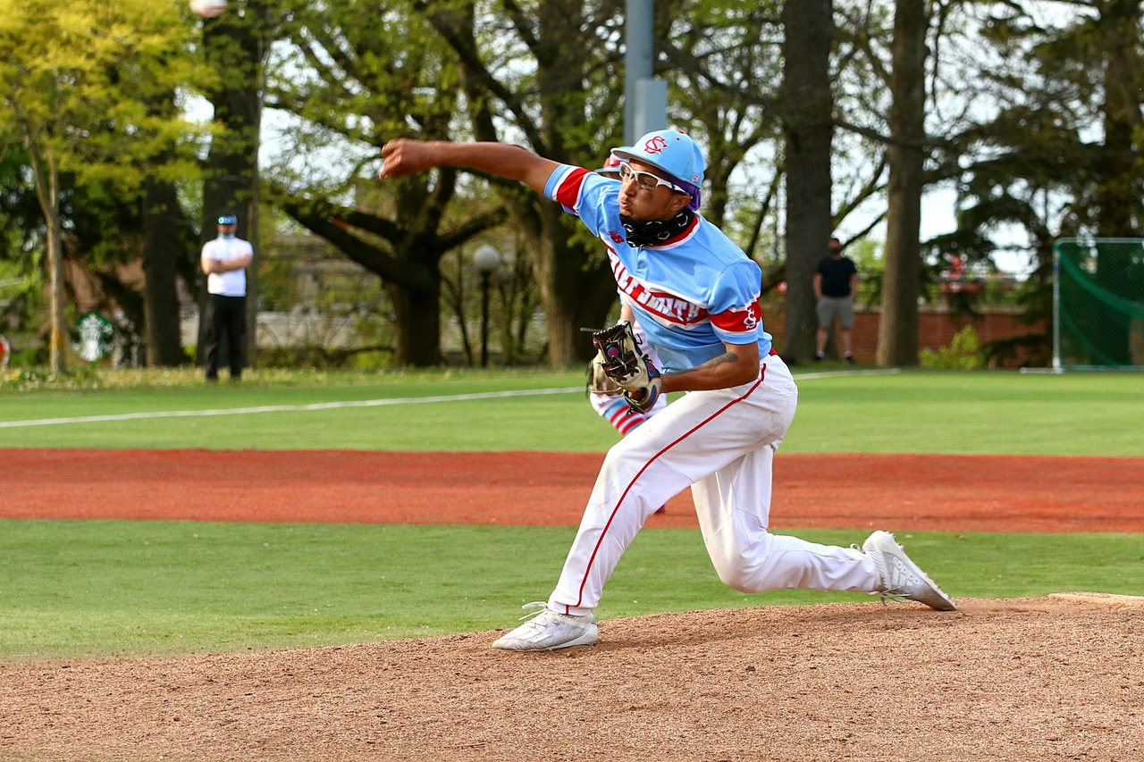
[[0, 108], [27, 151], [43, 214], [49, 280], [49, 364], [66, 371], [63, 261], [64, 178], [113, 178], [138, 188], [133, 157], [148, 154], [135, 132], [141, 97], [181, 40], [174, 7], [146, 0], [105, 3], [0, 0]]

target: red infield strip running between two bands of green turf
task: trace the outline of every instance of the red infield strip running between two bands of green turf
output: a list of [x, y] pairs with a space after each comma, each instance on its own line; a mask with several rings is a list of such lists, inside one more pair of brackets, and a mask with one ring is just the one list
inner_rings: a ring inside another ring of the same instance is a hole
[[[2, 453], [0, 516], [8, 518], [549, 526], [579, 523], [603, 460], [550, 452]], [[781, 454], [771, 519], [800, 529], [1144, 532], [1144, 459]], [[649, 526], [698, 526], [690, 493]]]

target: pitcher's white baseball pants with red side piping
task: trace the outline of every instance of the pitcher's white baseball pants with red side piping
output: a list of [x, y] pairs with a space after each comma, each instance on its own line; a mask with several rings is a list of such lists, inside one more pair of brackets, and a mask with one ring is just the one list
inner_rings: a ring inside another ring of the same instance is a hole
[[596, 477], [549, 608], [577, 616], [595, 609], [644, 521], [688, 486], [725, 585], [744, 593], [876, 589], [877, 570], [860, 550], [766, 531], [772, 459], [797, 398], [786, 363], [771, 355], [755, 381], [689, 391], [617, 443]]

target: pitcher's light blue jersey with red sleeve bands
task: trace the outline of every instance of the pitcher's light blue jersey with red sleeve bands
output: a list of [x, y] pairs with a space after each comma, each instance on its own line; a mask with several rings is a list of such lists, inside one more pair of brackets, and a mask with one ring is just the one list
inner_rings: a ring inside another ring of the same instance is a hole
[[718, 357], [729, 344], [758, 342], [762, 271], [723, 231], [696, 215], [686, 231], [659, 246], [631, 247], [620, 222], [620, 184], [581, 167], [561, 165], [545, 196], [580, 217], [607, 247], [621, 299], [659, 352], [666, 371], [684, 371]]

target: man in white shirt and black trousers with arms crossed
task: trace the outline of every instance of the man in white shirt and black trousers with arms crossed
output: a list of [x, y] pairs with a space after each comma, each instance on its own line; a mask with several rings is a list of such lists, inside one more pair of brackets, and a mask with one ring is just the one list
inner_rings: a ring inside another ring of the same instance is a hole
[[243, 378], [246, 349], [246, 268], [254, 260], [249, 241], [235, 235], [238, 217], [229, 212], [219, 215], [219, 237], [202, 246], [199, 264], [207, 276], [207, 346], [206, 376], [208, 383], [219, 380], [220, 344], [227, 336], [230, 380]]

